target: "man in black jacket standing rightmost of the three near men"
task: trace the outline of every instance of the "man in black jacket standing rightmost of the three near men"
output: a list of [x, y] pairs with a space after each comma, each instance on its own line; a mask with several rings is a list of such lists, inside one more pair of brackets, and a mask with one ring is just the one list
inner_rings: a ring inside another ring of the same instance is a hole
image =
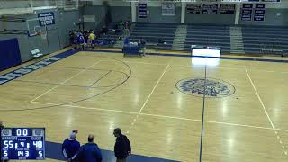
[[125, 162], [131, 153], [130, 141], [125, 135], [122, 135], [120, 128], [114, 129], [113, 134], [117, 138], [114, 146], [116, 162]]

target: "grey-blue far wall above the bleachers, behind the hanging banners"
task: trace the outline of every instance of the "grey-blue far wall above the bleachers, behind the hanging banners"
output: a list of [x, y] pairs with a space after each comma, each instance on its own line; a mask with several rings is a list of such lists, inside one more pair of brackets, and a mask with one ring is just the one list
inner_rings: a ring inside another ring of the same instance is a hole
[[[128, 17], [130, 14], [130, 4], [127, 3], [115, 3], [111, 2], [113, 15], [123, 13], [117, 16], [112, 16], [113, 21], [119, 21], [122, 17]], [[188, 3], [187, 3], [188, 4]], [[207, 3], [212, 4], [212, 3]], [[180, 23], [181, 20], [181, 3], [176, 3], [176, 14], [175, 16], [162, 16], [162, 6], [160, 2], [148, 2], [148, 18], [138, 18], [138, 3], [136, 3], [136, 20], [137, 22], [148, 22], [148, 23]], [[244, 22], [239, 20], [240, 25], [275, 25], [275, 26], [287, 26], [288, 25], [288, 1], [282, 1], [282, 3], [269, 3], [266, 4], [266, 20], [265, 22]], [[234, 25], [235, 14], [186, 14], [185, 12], [185, 23], [192, 24], [216, 24], [216, 25]]]

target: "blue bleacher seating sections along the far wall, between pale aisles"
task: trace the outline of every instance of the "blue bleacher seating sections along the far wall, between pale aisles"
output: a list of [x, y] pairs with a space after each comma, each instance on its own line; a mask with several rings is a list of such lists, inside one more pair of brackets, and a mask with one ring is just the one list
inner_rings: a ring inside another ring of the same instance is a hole
[[[130, 33], [131, 41], [145, 39], [148, 48], [172, 49], [175, 23], [136, 23]], [[184, 50], [190, 51], [191, 45], [218, 47], [223, 53], [230, 53], [230, 26], [228, 25], [187, 25]], [[247, 54], [282, 54], [288, 52], [288, 28], [242, 26], [244, 52]], [[159, 44], [164, 40], [166, 45]]]

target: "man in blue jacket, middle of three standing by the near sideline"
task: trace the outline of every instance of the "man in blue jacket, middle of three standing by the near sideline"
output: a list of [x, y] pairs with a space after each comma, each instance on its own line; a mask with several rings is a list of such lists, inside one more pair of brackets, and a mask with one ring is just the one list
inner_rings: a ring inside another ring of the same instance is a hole
[[102, 153], [98, 145], [94, 143], [94, 135], [88, 136], [88, 143], [79, 149], [76, 159], [80, 162], [102, 161]]

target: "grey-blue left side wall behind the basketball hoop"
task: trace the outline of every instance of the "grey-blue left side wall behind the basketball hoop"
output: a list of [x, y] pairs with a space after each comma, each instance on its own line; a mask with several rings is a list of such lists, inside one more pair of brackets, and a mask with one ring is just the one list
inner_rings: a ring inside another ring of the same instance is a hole
[[[20, 34], [0, 34], [0, 40], [17, 38], [19, 41], [22, 61], [31, 59], [31, 50], [40, 49], [43, 54], [49, 54], [69, 45], [68, 31], [76, 29], [79, 21], [79, 11], [63, 11], [58, 9], [39, 10], [35, 14], [24, 14], [21, 17], [26, 19], [37, 18], [37, 13], [53, 12], [55, 24], [47, 26], [47, 40], [41, 36], [28, 37]], [[6, 29], [27, 30], [26, 22], [4, 23]]]

